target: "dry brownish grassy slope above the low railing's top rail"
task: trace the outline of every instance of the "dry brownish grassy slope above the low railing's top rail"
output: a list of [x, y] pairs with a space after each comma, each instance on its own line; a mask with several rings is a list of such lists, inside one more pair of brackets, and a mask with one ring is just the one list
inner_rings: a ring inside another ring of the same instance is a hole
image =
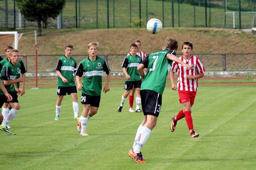
[[[20, 30], [28, 32], [31, 30]], [[130, 44], [140, 39], [141, 50], [148, 53], [162, 48], [167, 36], [175, 37], [180, 42], [194, 43], [193, 53], [255, 53], [256, 35], [252, 32], [233, 29], [214, 28], [163, 28], [156, 35], [144, 28], [126, 29], [44, 29], [44, 36], [37, 37], [38, 55], [61, 55], [64, 45], [74, 45], [74, 55], [86, 54], [87, 44], [100, 43], [98, 54], [126, 54]], [[11, 45], [14, 38], [0, 39], [0, 54], [4, 54], [6, 45]], [[19, 49], [22, 55], [34, 55], [34, 34], [22, 36]], [[177, 53], [181, 53], [181, 48]]]

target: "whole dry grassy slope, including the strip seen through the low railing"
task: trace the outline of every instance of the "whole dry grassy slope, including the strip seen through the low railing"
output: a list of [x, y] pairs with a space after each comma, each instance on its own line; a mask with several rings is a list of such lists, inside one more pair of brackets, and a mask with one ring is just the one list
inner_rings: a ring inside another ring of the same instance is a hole
[[[28, 31], [28, 30], [26, 30]], [[31, 31], [31, 30], [29, 30]], [[24, 31], [19, 31], [24, 32]], [[142, 41], [141, 50], [149, 54], [162, 49], [162, 45], [167, 36], [175, 37], [180, 43], [177, 53], [182, 53], [181, 45], [183, 41], [191, 41], [194, 43], [193, 53], [256, 53], [256, 36], [252, 32], [232, 29], [208, 29], [208, 28], [163, 28], [156, 34], [150, 34], [146, 29], [126, 28], [126, 29], [46, 29], [43, 30], [44, 36], [37, 37], [38, 43], [38, 71], [45, 72], [54, 70], [56, 62], [60, 55], [64, 55], [64, 45], [72, 43], [74, 45], [73, 55], [79, 63], [84, 55], [87, 55], [87, 44], [96, 41], [100, 43], [98, 55], [114, 55], [108, 57], [108, 62], [112, 71], [120, 71], [122, 69], [123, 57], [130, 50], [130, 44], [134, 40]], [[6, 40], [6, 41], [3, 41]], [[4, 54], [6, 45], [12, 44], [14, 37], [0, 39], [0, 54]], [[19, 43], [21, 55], [35, 55], [34, 33], [24, 34]], [[119, 55], [117, 55], [119, 54]], [[204, 55], [197, 55], [203, 60], [207, 70], [222, 70], [222, 55], [208, 55], [206, 60]], [[56, 55], [45, 57], [45, 55]], [[255, 56], [255, 55], [254, 55]], [[252, 63], [253, 59], [246, 61], [238, 61], [233, 56], [227, 61], [229, 69], [243, 69], [246, 64], [247, 70], [255, 70], [256, 63]], [[253, 56], [252, 56], [253, 57]], [[34, 72], [35, 59], [30, 56], [28, 58], [28, 72]], [[236, 63], [234, 61], [237, 61]], [[248, 62], [249, 61], [249, 64]], [[230, 63], [231, 62], [231, 63]], [[253, 66], [250, 66], [253, 65]]]

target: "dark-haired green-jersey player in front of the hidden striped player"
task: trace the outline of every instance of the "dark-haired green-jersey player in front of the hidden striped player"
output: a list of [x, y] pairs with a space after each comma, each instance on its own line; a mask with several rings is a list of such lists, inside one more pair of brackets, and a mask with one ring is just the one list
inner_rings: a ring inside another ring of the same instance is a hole
[[124, 94], [122, 95], [120, 106], [117, 111], [121, 112], [124, 107], [124, 102], [127, 100], [128, 95], [130, 94], [132, 87], [134, 86], [136, 91], [136, 112], [142, 112], [140, 110], [141, 98], [140, 98], [140, 86], [141, 86], [141, 78], [140, 74], [137, 70], [137, 66], [142, 62], [142, 58], [138, 56], [137, 53], [138, 46], [133, 43], [130, 45], [130, 55], [127, 55], [124, 58], [122, 68], [124, 75], [126, 77], [126, 81], [124, 84]]

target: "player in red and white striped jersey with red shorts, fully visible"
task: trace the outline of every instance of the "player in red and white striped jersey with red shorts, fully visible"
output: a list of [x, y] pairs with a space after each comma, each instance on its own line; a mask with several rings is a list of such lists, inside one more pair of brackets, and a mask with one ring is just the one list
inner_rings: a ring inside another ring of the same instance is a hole
[[[194, 65], [191, 70], [187, 70], [181, 64], [172, 63], [172, 71], [170, 72], [172, 90], [178, 89], [180, 104], [183, 104], [183, 109], [176, 116], [172, 117], [171, 131], [174, 132], [177, 121], [185, 117], [191, 137], [198, 137], [199, 134], [194, 131], [191, 107], [196, 97], [198, 78], [204, 76], [205, 70], [200, 59], [191, 55], [192, 50], [193, 44], [188, 41], [184, 42], [182, 44], [183, 55], [179, 58], [186, 64]], [[177, 85], [174, 83], [174, 72], [178, 72]]]

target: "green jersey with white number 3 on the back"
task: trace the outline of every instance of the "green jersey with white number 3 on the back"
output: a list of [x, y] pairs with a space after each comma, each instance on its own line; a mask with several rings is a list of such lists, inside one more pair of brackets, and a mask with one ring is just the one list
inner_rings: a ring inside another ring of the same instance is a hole
[[148, 68], [148, 71], [141, 84], [140, 90], [152, 90], [161, 95], [163, 94], [166, 85], [166, 77], [169, 74], [173, 62], [166, 58], [168, 53], [176, 55], [175, 51], [164, 49], [150, 54], [142, 61], [142, 64], [144, 64], [145, 68]]

